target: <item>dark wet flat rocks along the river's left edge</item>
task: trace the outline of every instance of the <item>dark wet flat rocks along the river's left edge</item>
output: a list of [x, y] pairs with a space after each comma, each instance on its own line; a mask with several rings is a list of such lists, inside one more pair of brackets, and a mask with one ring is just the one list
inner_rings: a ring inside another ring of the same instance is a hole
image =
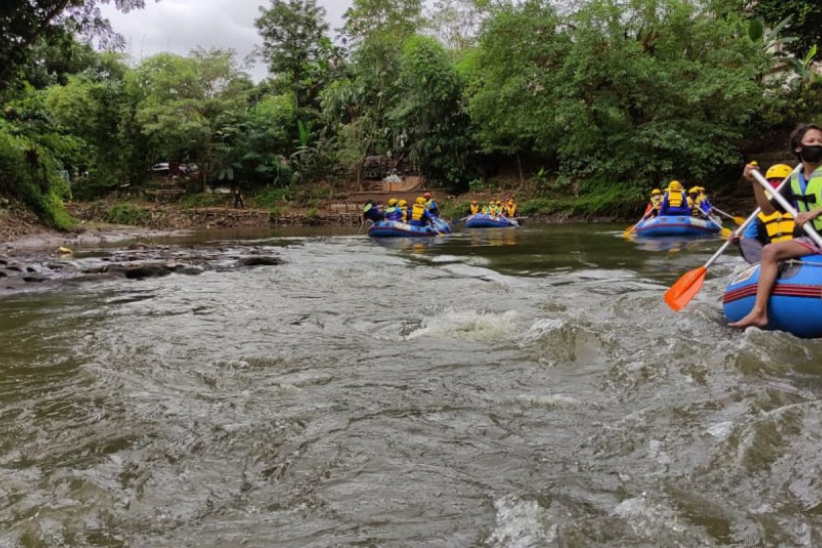
[[196, 276], [206, 270], [226, 271], [282, 262], [279, 254], [266, 246], [189, 249], [138, 243], [127, 249], [78, 253], [19, 251], [0, 255], [0, 295], [117, 278]]

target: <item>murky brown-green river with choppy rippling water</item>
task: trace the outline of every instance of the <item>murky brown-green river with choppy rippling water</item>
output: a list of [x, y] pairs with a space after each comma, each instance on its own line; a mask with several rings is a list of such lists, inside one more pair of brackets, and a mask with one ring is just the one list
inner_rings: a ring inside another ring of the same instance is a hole
[[4, 297], [0, 546], [820, 546], [822, 343], [726, 327], [735, 251], [668, 310], [720, 242], [623, 228]]

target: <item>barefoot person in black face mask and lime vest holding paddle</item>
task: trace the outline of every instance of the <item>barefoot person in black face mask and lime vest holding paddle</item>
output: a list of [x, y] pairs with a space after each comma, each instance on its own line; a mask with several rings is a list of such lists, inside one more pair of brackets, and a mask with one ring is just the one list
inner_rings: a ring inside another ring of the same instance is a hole
[[[790, 142], [791, 151], [801, 160], [802, 168], [799, 172], [792, 174], [781, 194], [799, 213], [797, 219], [794, 220], [797, 229], [805, 223], [812, 223], [811, 226], [816, 232], [820, 232], [822, 230], [822, 219], [819, 219], [822, 215], [822, 169], [820, 169], [822, 166], [822, 128], [814, 124], [803, 124], [791, 133]], [[755, 164], [749, 163], [745, 166], [743, 175], [753, 182], [756, 203], [759, 204], [762, 212], [766, 215], [773, 214], [777, 210], [751, 174], [755, 168]], [[776, 283], [779, 261], [818, 253], [822, 253], [822, 249], [807, 236], [764, 246], [754, 306], [744, 318], [728, 325], [736, 328], [768, 325], [768, 298]]]

